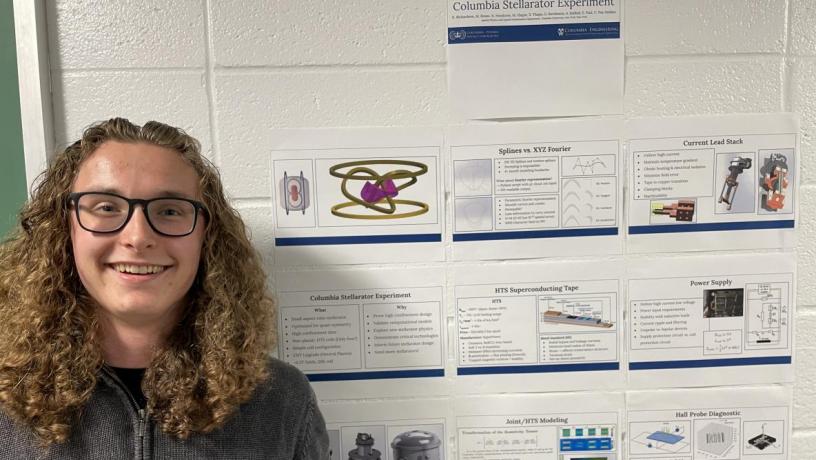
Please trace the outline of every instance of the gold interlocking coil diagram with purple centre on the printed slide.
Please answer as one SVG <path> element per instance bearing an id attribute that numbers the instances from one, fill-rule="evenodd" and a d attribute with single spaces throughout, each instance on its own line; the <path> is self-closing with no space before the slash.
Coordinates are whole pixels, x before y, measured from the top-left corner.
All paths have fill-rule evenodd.
<path id="1" fill-rule="evenodd" d="M 414 168 L 394 169 L 383 174 L 375 166 L 407 166 Z M 347 168 L 347 171 L 342 171 Z M 331 208 L 331 213 L 347 219 L 401 219 L 414 217 L 428 212 L 428 204 L 421 201 L 395 199 L 399 192 L 417 183 L 417 177 L 428 172 L 426 164 L 407 160 L 362 160 L 340 163 L 329 168 L 329 174 L 343 179 L 340 191 L 349 201 L 339 203 Z M 365 181 L 360 195 L 348 191 L 349 181 Z M 409 210 L 397 212 L 397 206 L 409 207 Z M 370 211 L 369 214 L 352 213 L 346 208 L 360 206 Z"/>

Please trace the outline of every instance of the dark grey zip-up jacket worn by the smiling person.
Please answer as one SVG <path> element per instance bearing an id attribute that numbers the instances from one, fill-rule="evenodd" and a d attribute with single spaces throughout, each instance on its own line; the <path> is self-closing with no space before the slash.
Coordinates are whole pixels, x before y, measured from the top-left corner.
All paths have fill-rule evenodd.
<path id="1" fill-rule="evenodd" d="M 329 438 L 306 377 L 276 359 L 270 378 L 218 430 L 186 440 L 163 433 L 109 369 L 64 444 L 37 447 L 31 430 L 0 410 L 0 459 L 327 460 Z"/>

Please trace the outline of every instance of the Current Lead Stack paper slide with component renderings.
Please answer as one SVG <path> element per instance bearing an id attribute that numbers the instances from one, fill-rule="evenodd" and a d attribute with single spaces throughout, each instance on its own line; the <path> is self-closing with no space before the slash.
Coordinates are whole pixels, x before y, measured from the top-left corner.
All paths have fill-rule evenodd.
<path id="1" fill-rule="evenodd" d="M 632 120 L 632 252 L 795 245 L 799 126 L 791 114 Z"/>

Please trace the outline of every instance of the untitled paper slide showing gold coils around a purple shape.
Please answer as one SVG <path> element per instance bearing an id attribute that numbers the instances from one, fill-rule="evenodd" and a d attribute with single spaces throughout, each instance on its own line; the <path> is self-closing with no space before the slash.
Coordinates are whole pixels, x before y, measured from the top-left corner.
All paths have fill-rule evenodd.
<path id="1" fill-rule="evenodd" d="M 287 130 L 271 153 L 277 265 L 442 260 L 436 129 Z"/>

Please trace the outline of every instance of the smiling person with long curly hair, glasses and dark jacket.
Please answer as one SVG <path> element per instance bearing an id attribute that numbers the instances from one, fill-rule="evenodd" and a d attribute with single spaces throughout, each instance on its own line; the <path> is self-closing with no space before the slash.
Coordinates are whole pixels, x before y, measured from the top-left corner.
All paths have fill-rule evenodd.
<path id="1" fill-rule="evenodd" d="M 259 256 L 199 143 L 88 128 L 0 246 L 0 458 L 325 460 L 314 393 L 270 358 Z"/>

